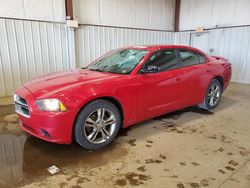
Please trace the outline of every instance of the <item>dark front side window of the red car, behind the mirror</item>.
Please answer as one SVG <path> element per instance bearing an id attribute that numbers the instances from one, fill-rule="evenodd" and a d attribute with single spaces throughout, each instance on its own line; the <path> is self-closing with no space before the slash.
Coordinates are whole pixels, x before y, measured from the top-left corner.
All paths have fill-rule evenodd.
<path id="1" fill-rule="evenodd" d="M 178 67 L 176 50 L 159 50 L 155 52 L 145 66 L 157 66 L 159 72 L 175 69 Z"/>

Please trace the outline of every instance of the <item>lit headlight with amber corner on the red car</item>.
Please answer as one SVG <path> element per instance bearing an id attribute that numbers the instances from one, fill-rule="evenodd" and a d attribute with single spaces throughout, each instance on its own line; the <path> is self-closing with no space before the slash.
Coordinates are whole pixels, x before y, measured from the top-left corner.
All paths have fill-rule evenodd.
<path id="1" fill-rule="evenodd" d="M 64 112 L 66 107 L 58 99 L 37 100 L 36 104 L 40 110 L 49 112 Z"/>

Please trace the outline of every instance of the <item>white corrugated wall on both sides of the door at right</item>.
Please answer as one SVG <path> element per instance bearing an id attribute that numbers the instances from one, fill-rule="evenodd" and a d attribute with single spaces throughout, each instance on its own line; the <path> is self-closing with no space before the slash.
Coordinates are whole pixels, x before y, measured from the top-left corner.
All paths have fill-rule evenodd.
<path id="1" fill-rule="evenodd" d="M 175 44 L 190 45 L 192 32 L 175 33 Z M 250 83 L 250 26 L 209 30 L 208 49 L 232 63 L 232 81 Z"/>

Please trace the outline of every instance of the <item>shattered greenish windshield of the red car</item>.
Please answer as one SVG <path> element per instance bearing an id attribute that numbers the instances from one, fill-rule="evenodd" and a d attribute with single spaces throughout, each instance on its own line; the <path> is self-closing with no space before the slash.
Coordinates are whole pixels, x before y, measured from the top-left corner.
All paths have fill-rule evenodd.
<path id="1" fill-rule="evenodd" d="M 148 51 L 139 49 L 111 51 L 90 64 L 87 69 L 99 72 L 130 74 L 147 53 Z"/>

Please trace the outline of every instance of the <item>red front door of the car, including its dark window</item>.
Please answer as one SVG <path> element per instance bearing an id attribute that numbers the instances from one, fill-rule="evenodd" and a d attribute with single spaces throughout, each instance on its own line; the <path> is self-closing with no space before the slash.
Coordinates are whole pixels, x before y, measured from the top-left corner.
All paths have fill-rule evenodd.
<path id="1" fill-rule="evenodd" d="M 187 102 L 186 75 L 179 69 L 180 63 L 175 49 L 155 52 L 144 66 L 157 66 L 157 73 L 139 73 L 137 112 L 143 120 L 177 110 Z"/>

